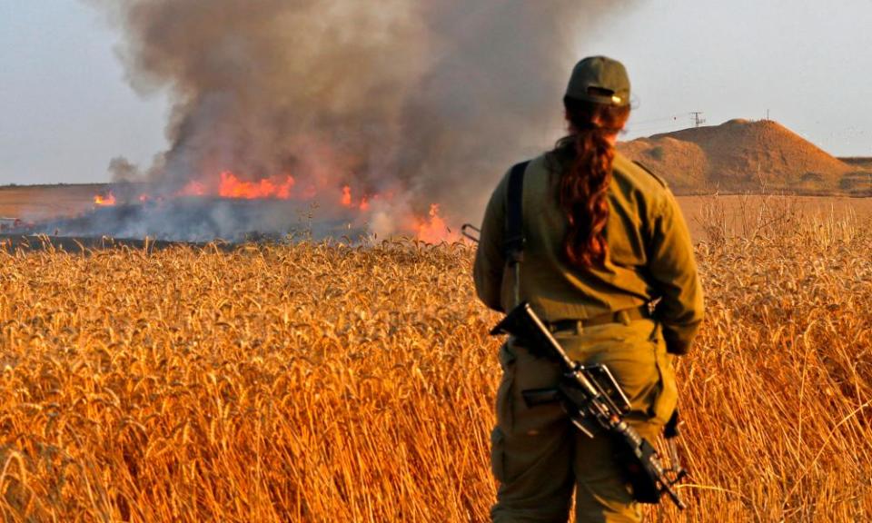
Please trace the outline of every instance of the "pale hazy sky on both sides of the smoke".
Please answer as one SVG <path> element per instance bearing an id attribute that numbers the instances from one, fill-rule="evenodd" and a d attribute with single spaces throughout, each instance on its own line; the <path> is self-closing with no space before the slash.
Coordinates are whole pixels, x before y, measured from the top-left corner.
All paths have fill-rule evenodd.
<path id="1" fill-rule="evenodd" d="M 691 111 L 717 124 L 768 110 L 829 153 L 872 156 L 870 23 L 872 0 L 639 1 L 578 54 L 627 64 L 626 139 L 688 127 Z M 0 0 L 0 184 L 103 182 L 114 156 L 148 164 L 166 147 L 166 101 L 126 84 L 118 40 L 78 0 Z"/>

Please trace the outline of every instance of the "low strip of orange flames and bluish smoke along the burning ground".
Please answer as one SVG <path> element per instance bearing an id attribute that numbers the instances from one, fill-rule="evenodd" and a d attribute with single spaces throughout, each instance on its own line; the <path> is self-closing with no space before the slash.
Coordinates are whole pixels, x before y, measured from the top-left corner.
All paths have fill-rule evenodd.
<path id="1" fill-rule="evenodd" d="M 377 240 L 373 226 L 385 222 L 391 234 L 422 242 L 459 238 L 442 218 L 438 203 L 432 203 L 420 215 L 396 210 L 387 213 L 385 207 L 394 201 L 393 193 L 355 196 L 351 187 L 344 186 L 325 200 L 312 189 L 296 189 L 290 176 L 253 183 L 222 173 L 214 188 L 192 182 L 173 194 L 157 194 L 142 183 L 116 184 L 96 194 L 89 211 L 31 223 L 18 230 L 62 237 L 97 235 L 171 242 L 289 238 L 362 242 Z"/>

